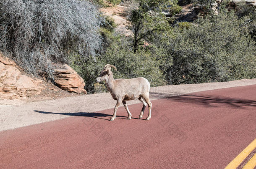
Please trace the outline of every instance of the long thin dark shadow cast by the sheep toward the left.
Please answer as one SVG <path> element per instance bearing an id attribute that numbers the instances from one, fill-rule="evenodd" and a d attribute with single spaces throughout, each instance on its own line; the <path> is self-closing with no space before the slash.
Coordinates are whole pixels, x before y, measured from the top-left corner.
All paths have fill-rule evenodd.
<path id="1" fill-rule="evenodd" d="M 95 113 L 95 112 L 77 112 L 77 113 L 54 113 L 54 112 L 48 112 L 48 111 L 38 111 L 34 110 L 37 113 L 42 113 L 42 114 L 60 114 L 60 115 L 65 115 L 65 116 L 81 116 L 81 117 L 91 117 L 91 118 L 96 118 L 96 119 L 102 119 L 102 120 L 110 120 L 110 119 L 105 119 L 102 117 L 112 117 L 112 114 L 104 114 L 104 113 Z M 116 115 L 116 119 L 127 119 L 127 116 L 118 116 Z M 138 118 L 133 118 L 132 119 L 138 119 Z"/>

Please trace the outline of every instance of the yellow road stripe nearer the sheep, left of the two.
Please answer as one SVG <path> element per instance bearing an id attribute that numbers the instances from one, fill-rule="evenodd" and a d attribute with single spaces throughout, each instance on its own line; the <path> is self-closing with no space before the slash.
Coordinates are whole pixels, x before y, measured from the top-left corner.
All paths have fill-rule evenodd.
<path id="1" fill-rule="evenodd" d="M 243 160 L 256 148 L 256 139 L 251 142 L 238 156 L 228 164 L 225 169 L 235 169 L 243 162 Z"/>

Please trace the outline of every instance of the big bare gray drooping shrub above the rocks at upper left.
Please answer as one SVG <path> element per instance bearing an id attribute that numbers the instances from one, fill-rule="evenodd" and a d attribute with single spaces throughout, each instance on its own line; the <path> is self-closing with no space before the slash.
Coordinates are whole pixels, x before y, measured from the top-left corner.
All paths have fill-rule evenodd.
<path id="1" fill-rule="evenodd" d="M 53 79 L 53 62 L 67 62 L 72 52 L 96 55 L 103 21 L 84 0 L 1 0 L 0 50 L 33 74 Z"/>

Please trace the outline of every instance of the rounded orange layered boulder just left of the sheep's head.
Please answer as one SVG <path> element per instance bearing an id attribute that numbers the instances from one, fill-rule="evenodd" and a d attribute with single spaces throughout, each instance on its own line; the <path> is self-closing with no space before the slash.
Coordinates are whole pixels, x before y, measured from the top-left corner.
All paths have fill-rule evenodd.
<path id="1" fill-rule="evenodd" d="M 59 88 L 68 92 L 87 94 L 84 89 L 84 79 L 70 66 L 64 64 L 63 68 L 57 68 L 54 71 L 54 81 Z"/>

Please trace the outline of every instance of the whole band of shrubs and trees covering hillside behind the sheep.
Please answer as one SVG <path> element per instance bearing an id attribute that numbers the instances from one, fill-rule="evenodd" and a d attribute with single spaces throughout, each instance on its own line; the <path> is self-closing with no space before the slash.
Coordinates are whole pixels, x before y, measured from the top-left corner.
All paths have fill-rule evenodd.
<path id="1" fill-rule="evenodd" d="M 97 8 L 123 4 L 130 36 L 115 31 Z M 178 21 L 182 7 L 201 5 L 193 22 Z M 26 71 L 47 72 L 65 62 L 84 78 L 88 93 L 105 64 L 114 78 L 143 76 L 152 86 L 256 78 L 256 10 L 205 0 L 3 0 L 0 50 Z M 216 15 L 216 10 L 218 15 Z M 164 13 L 169 12 L 169 17 Z M 15 15 L 14 15 L 15 14 Z"/>

